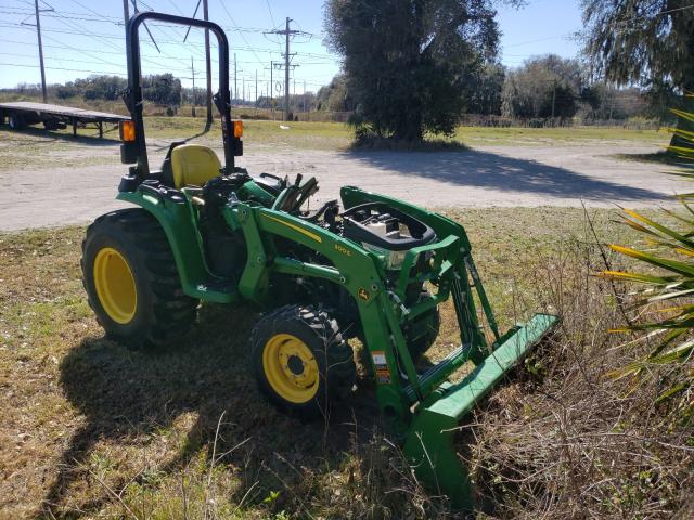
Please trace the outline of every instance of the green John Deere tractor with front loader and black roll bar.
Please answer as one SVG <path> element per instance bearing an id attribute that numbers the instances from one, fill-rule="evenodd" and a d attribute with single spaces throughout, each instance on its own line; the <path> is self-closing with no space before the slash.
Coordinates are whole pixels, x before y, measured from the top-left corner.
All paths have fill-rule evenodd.
<path id="1" fill-rule="evenodd" d="M 223 165 L 208 147 L 174 143 L 162 168 L 150 170 L 138 32 L 149 20 L 217 37 Z M 381 413 L 416 474 L 453 507 L 471 508 L 468 476 L 452 444 L 459 421 L 556 317 L 537 314 L 500 334 L 465 231 L 440 214 L 352 186 L 342 188 L 342 204 L 309 212 L 316 179 L 254 178 L 236 167 L 243 125 L 231 119 L 229 47 L 218 25 L 140 13 L 127 26 L 127 49 L 131 120 L 120 126 L 120 151 L 131 166 L 117 198 L 137 208 L 98 218 L 81 259 L 89 303 L 106 335 L 160 346 L 195 323 L 202 301 L 264 306 L 249 338 L 258 386 L 279 407 L 307 416 L 324 414 L 354 388 L 347 340 L 359 338 Z M 449 299 L 460 346 L 417 372 Z M 449 382 L 467 361 L 474 369 Z"/>

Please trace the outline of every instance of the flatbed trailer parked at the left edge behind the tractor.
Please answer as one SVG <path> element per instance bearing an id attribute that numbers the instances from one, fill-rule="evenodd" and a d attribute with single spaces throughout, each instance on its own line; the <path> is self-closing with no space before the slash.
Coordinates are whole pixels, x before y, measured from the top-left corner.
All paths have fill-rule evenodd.
<path id="1" fill-rule="evenodd" d="M 42 122 L 48 130 L 59 130 L 72 126 L 75 136 L 77 136 L 78 128 L 94 128 L 99 130 L 99 136 L 103 138 L 104 123 L 118 125 L 120 121 L 129 119 L 129 117 L 118 114 L 47 103 L 28 101 L 0 103 L 0 125 L 7 122 L 13 130 L 22 130 L 28 125 Z"/>

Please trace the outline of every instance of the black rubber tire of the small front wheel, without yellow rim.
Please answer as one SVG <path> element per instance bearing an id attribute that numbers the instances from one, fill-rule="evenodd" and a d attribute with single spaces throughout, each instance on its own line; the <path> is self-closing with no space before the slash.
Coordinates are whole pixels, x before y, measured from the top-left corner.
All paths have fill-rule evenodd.
<path id="1" fill-rule="evenodd" d="M 294 403 L 283 399 L 266 377 L 264 349 L 278 334 L 300 339 L 316 359 L 320 382 L 316 396 L 308 402 Z M 258 387 L 270 401 L 306 418 L 324 416 L 335 402 L 351 392 L 357 377 L 354 352 L 343 339 L 337 322 L 314 307 L 285 306 L 266 314 L 250 335 L 250 362 Z"/>

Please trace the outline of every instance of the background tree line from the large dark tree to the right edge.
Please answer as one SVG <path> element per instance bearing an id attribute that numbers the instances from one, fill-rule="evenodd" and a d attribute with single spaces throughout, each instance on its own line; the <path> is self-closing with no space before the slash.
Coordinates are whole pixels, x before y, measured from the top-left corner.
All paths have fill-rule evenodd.
<path id="1" fill-rule="evenodd" d="M 325 102 L 354 109 L 358 136 L 421 141 L 451 134 L 465 112 L 604 118 L 642 106 L 663 117 L 694 90 L 691 0 L 581 0 L 584 63 L 548 55 L 515 70 L 499 65 L 500 4 L 525 2 L 327 0 L 344 74 Z"/>

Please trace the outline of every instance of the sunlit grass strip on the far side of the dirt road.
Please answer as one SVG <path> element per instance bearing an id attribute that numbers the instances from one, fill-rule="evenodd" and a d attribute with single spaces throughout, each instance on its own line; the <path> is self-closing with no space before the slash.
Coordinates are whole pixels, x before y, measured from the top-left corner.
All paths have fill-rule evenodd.
<path id="1" fill-rule="evenodd" d="M 201 118 L 147 117 L 146 135 L 150 145 L 165 150 L 172 141 L 194 139 L 195 142 L 220 146 L 221 131 L 218 126 L 205 132 Z M 282 129 L 277 121 L 245 122 L 246 150 L 264 151 L 345 151 L 352 144 L 352 132 L 348 126 L 338 122 L 292 122 Z M 0 171 L 16 168 L 62 168 L 86 165 L 118 165 L 117 130 L 108 129 L 105 139 L 99 139 L 94 130 L 79 130 L 78 138 L 72 130 L 46 131 L 29 128 L 22 133 L 12 132 L 0 126 Z M 603 146 L 615 147 L 644 145 L 666 146 L 669 134 L 655 130 L 626 130 L 617 128 L 483 128 L 461 127 L 448 140 L 437 140 L 427 150 L 461 150 L 465 146 Z M 651 155 L 622 155 L 619 158 L 652 160 Z"/>

